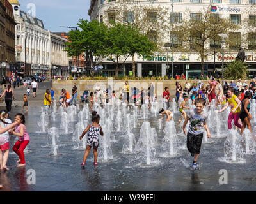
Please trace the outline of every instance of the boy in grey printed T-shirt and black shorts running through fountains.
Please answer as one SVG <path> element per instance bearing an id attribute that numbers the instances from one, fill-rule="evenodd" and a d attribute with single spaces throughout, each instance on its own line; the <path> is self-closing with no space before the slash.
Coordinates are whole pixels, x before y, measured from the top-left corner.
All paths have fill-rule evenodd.
<path id="1" fill-rule="evenodd" d="M 204 111 L 205 100 L 196 99 L 196 108 L 189 110 L 186 120 L 183 124 L 184 135 L 186 135 L 186 125 L 190 121 L 188 135 L 187 135 L 187 148 L 194 157 L 192 168 L 197 168 L 198 157 L 200 154 L 201 143 L 203 138 L 204 129 L 207 131 L 208 138 L 211 138 L 211 133 L 207 127 L 208 114 Z"/>

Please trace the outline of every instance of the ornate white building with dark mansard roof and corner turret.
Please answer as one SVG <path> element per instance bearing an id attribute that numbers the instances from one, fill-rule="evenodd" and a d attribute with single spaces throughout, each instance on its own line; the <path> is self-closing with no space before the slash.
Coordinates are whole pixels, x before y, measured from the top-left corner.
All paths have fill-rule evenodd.
<path id="1" fill-rule="evenodd" d="M 50 33 L 43 21 L 20 11 L 17 0 L 9 0 L 15 16 L 15 45 L 17 74 L 49 75 L 51 67 Z"/>

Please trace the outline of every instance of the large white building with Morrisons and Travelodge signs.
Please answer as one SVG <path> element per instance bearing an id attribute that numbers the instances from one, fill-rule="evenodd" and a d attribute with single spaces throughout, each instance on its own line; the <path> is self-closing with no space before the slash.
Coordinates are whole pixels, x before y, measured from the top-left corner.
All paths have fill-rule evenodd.
<path id="1" fill-rule="evenodd" d="M 134 1 L 135 2 L 135 1 Z M 126 13 L 115 13 L 115 4 L 118 0 L 91 0 L 90 8 L 88 10 L 88 15 L 90 15 L 91 20 L 98 20 L 99 22 L 104 22 L 108 24 L 111 20 L 115 21 L 116 15 L 122 15 L 125 21 L 132 21 L 134 19 L 134 10 L 129 8 Z M 211 8 L 214 12 L 221 18 L 229 18 L 234 24 L 243 24 L 243 21 L 250 21 L 256 25 L 256 1 L 255 0 L 173 0 L 173 23 L 182 24 L 182 20 L 193 18 L 200 11 L 204 10 L 205 7 Z M 172 1 L 161 0 L 161 1 L 148 1 L 139 0 L 136 1 L 138 6 L 151 6 L 156 8 L 154 11 L 155 20 L 159 13 L 157 8 L 168 8 L 168 13 L 166 13 L 166 22 L 170 24 L 172 20 Z M 119 18 L 120 19 L 120 18 Z M 126 20 L 125 20 L 126 19 Z M 244 26 L 241 26 L 239 31 L 236 31 L 237 41 L 239 41 L 239 47 L 243 47 L 246 54 L 246 63 L 250 65 L 248 68 L 250 70 L 250 75 L 256 74 L 256 30 L 255 27 L 252 31 L 247 31 Z M 157 38 L 162 38 L 166 43 L 170 43 L 170 33 L 171 30 L 168 29 L 162 36 L 157 36 Z M 243 36 L 249 36 L 248 41 L 241 41 Z M 250 37 L 251 36 L 251 37 Z M 207 45 L 210 47 L 210 45 Z M 225 44 L 224 51 L 224 62 L 231 62 L 237 56 L 239 47 L 230 50 L 228 45 Z M 162 50 L 166 50 L 163 46 Z M 168 56 L 168 57 L 167 57 Z M 171 57 L 170 48 L 161 53 L 155 53 L 154 56 L 147 57 L 135 57 L 136 60 L 136 76 L 164 76 L 172 73 L 171 68 Z M 122 59 L 120 59 L 122 61 Z M 209 56 L 205 59 L 205 74 L 212 75 L 214 72 L 214 66 L 218 71 L 221 70 L 222 55 L 217 53 Z M 102 59 L 100 65 L 103 66 L 102 73 L 108 76 L 115 75 L 115 65 L 109 59 Z M 169 67 L 169 68 L 168 68 Z M 125 62 L 124 68 L 120 71 L 120 75 L 129 75 L 132 71 L 132 59 L 129 57 Z M 184 73 L 186 77 L 195 77 L 200 75 L 201 64 L 199 54 L 193 52 L 180 52 L 175 50 L 173 53 L 173 77 L 175 75 L 181 75 Z"/>

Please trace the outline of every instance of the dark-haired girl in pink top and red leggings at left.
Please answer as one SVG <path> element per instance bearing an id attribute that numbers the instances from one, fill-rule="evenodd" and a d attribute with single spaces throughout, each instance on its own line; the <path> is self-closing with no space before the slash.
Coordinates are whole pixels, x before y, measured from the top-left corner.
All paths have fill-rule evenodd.
<path id="1" fill-rule="evenodd" d="M 17 163 L 20 163 L 17 167 L 25 166 L 25 156 L 24 149 L 29 143 L 29 135 L 26 130 L 25 124 L 25 116 L 22 113 L 18 113 L 15 115 L 15 122 L 17 122 L 16 127 L 12 130 L 12 134 L 19 137 L 19 140 L 15 143 L 12 150 L 18 154 L 19 160 Z"/>

